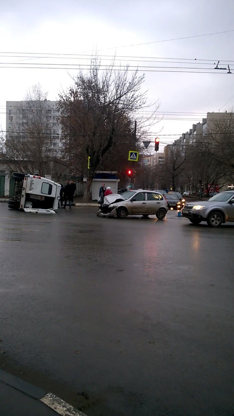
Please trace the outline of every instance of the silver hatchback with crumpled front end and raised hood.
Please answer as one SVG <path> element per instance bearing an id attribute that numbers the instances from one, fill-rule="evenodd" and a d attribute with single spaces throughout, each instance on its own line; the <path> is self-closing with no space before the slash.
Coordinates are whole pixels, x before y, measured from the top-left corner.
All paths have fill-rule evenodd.
<path id="1" fill-rule="evenodd" d="M 144 189 L 123 192 L 121 195 L 105 196 L 104 203 L 97 211 L 101 217 L 126 218 L 127 215 L 156 215 L 163 220 L 167 213 L 167 201 L 161 193 Z"/>

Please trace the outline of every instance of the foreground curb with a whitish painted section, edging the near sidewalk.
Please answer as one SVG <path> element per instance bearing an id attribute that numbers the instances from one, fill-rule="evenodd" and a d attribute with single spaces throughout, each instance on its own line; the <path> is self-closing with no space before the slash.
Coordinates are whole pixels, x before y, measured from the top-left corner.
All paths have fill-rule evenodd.
<path id="1" fill-rule="evenodd" d="M 75 407 L 55 396 L 55 394 L 46 393 L 43 389 L 33 386 L 33 384 L 27 383 L 27 381 L 23 381 L 18 377 L 12 376 L 4 370 L 0 370 L 0 381 L 7 384 L 7 386 L 27 394 L 27 396 L 31 396 L 34 399 L 41 401 L 57 414 L 62 416 L 86 416 L 81 411 L 75 409 Z"/>

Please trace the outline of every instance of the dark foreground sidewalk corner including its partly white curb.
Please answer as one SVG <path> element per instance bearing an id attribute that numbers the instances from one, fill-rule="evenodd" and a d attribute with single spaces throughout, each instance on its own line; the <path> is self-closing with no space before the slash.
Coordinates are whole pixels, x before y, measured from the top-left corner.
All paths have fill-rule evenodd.
<path id="1" fill-rule="evenodd" d="M 85 416 L 52 393 L 0 370 L 1 416 Z"/>

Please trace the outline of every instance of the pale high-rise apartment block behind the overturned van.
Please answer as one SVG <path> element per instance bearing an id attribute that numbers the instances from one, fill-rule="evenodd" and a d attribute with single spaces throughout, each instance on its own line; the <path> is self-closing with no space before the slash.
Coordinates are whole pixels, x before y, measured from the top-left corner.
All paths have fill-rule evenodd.
<path id="1" fill-rule="evenodd" d="M 50 149 L 56 156 L 60 156 L 61 144 L 61 125 L 57 118 L 57 102 L 44 101 L 7 101 L 6 102 L 6 138 L 9 139 L 12 134 L 23 134 L 32 124 L 42 124 L 43 134 L 50 140 Z M 25 134 L 27 139 L 27 134 Z"/>

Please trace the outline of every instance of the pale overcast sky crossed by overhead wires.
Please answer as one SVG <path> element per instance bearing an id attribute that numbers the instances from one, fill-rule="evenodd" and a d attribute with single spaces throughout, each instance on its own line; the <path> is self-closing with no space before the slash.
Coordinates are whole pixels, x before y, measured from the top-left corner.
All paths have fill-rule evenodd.
<path id="1" fill-rule="evenodd" d="M 77 61 L 52 54 L 89 55 L 98 50 L 100 55 L 116 53 L 122 64 L 129 60 L 139 69 L 143 65 L 180 66 L 193 67 L 193 71 L 207 68 L 207 72 L 214 72 L 165 72 L 178 70 L 169 68 L 161 69 L 164 72 L 145 72 L 149 102 L 159 100 L 160 116 L 164 114 L 153 132 L 162 129 L 159 133 L 161 143 L 169 142 L 177 138 L 175 134 L 182 134 L 193 123 L 202 120 L 202 114 L 219 109 L 224 111 L 234 105 L 234 32 L 170 39 L 234 30 L 233 16 L 234 0 L 1 0 L 0 52 L 4 52 L 1 55 L 19 52 L 18 57 L 2 56 L 1 62 L 10 63 L 6 64 L 8 66 L 15 62 L 18 66 L 30 63 L 82 63 L 87 66 L 89 57 L 83 56 L 85 59 Z M 168 41 L 159 42 L 163 40 Z M 155 43 L 122 47 L 147 42 Z M 48 55 L 47 59 L 29 59 L 24 57 L 26 52 L 33 56 L 35 53 Z M 119 58 L 120 55 L 127 58 Z M 175 59 L 174 62 L 164 59 L 167 62 L 155 63 L 152 59 L 142 62 L 147 59 L 140 57 Z M 189 59 L 194 61 L 188 64 Z M 217 64 L 218 60 L 224 60 L 221 64 L 225 67 L 230 63 L 233 74 L 214 71 L 214 62 Z M 6 101 L 22 100 L 27 89 L 38 82 L 48 91 L 48 99 L 55 100 L 58 92 L 71 83 L 68 72 L 75 74 L 72 69 L 0 68 L 2 128 L 5 129 Z M 185 116 L 185 112 L 190 114 Z"/>

